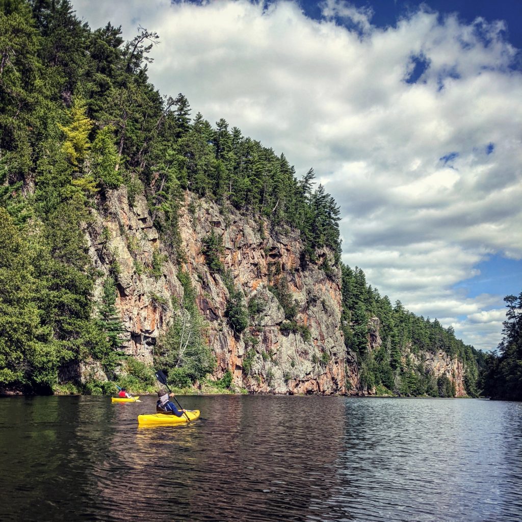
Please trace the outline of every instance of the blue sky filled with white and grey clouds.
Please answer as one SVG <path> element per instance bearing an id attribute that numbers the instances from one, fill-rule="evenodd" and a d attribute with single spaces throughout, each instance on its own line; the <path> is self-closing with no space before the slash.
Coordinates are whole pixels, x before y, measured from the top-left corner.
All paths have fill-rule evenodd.
<path id="1" fill-rule="evenodd" d="M 494 349 L 522 290 L 522 2 L 73 0 L 93 28 L 160 35 L 149 66 L 313 167 L 343 261 L 410 311 Z"/>

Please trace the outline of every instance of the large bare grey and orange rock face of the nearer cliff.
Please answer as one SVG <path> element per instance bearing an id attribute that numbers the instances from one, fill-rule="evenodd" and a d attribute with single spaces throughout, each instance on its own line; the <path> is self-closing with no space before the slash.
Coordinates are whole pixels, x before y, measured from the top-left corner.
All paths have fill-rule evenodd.
<path id="1" fill-rule="evenodd" d="M 317 252 L 317 262 L 305 266 L 298 231 L 271 231 L 266 220 L 233 209 L 223 216 L 215 204 L 188 192 L 184 203 L 180 232 L 186 262 L 182 267 L 165 251 L 143 196 L 129 206 L 126 189 L 121 187 L 108 194 L 103 215 L 93 211 L 89 253 L 99 270 L 98 289 L 109 272 L 115 274 L 125 352 L 152 362 L 156 339 L 175 313 L 171 298 L 179 301 L 183 295 L 176 278 L 183 268 L 191 276 L 199 311 L 207 322 L 206 336 L 217 360 L 213 378 L 230 370 L 233 383 L 252 393 L 357 394 L 357 362 L 347 353 L 340 330 L 340 270 L 328 270 L 327 275 L 320 268 L 324 260 L 333 264 L 331 252 Z M 221 261 L 245 303 L 251 299 L 259 303 L 259 312 L 251 316 L 241 335 L 225 317 L 227 287 L 210 272 L 202 253 L 203 241 L 212 230 L 222 238 Z M 281 283 L 296 304 L 296 322 L 309 329 L 309 339 L 281 329 L 284 312 L 269 290 Z M 89 371 L 99 374 L 99 369 Z"/>

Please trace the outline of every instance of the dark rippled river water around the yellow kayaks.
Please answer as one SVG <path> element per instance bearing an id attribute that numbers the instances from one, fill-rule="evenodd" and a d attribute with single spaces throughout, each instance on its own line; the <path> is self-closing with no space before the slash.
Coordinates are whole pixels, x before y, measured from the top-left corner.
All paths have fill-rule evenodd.
<path id="1" fill-rule="evenodd" d="M 522 520 L 522 404 L 179 399 L 0 399 L 0 520 Z"/>

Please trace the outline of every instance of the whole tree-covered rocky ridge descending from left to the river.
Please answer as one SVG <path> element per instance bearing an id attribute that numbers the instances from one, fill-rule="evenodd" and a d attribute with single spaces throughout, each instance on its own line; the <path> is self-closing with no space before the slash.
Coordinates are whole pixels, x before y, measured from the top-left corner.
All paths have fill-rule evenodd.
<path id="1" fill-rule="evenodd" d="M 312 169 L 156 91 L 156 33 L 66 0 L 0 28 L 0 392 L 146 392 L 161 367 L 186 389 L 477 393 L 472 347 L 342 264 Z"/>

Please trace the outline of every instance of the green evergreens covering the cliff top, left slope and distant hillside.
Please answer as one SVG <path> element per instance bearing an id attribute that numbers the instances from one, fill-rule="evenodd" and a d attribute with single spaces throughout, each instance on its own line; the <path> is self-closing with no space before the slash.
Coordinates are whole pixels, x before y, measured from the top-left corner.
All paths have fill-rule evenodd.
<path id="1" fill-rule="evenodd" d="M 451 327 L 392 305 L 362 270 L 342 265 L 339 207 L 315 186 L 313 170 L 298 179 L 283 154 L 225 120 L 212 126 L 192 116 L 183 94 L 161 96 L 147 77 L 158 35 L 140 27 L 125 42 L 121 34 L 110 23 L 91 30 L 67 0 L 0 0 L 0 389 L 48 393 L 71 362 L 92 358 L 108 371 L 121 363 L 114 278 L 95 302 L 85 228 L 90 210 L 124 184 L 130 203 L 146 194 L 177 260 L 186 190 L 216 201 L 224 215 L 233 207 L 267 217 L 274 228 L 299 229 L 303 268 L 320 247 L 341 267 L 346 345 L 365 386 L 453 396 L 447 377 L 437 380 L 413 361 L 443 350 L 465 362 L 466 389 L 476 395 L 480 352 Z M 337 277 L 327 262 L 321 268 Z M 383 340 L 373 351 L 372 317 Z M 513 343 L 505 346 L 507 353 Z M 149 378 L 135 362 L 128 371 Z"/>

